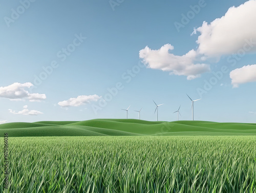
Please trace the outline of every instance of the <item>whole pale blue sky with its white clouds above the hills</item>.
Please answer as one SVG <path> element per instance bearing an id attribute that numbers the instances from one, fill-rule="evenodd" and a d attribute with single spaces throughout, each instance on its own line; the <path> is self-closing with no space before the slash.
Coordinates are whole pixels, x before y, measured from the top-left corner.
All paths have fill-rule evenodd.
<path id="1" fill-rule="evenodd" d="M 202 98 L 196 120 L 255 122 L 256 47 L 243 46 L 256 1 L 245 2 L 2 1 L 0 121 L 126 118 L 129 105 L 129 118 L 143 107 L 156 120 L 153 99 L 159 120 L 180 105 L 190 120 L 188 94 Z"/>

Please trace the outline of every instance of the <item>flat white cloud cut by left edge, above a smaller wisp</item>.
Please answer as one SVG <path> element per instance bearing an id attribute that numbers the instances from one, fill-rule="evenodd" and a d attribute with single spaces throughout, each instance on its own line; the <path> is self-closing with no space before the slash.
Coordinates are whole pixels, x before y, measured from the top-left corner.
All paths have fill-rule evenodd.
<path id="1" fill-rule="evenodd" d="M 7 87 L 0 87 L 0 97 L 10 100 L 28 99 L 29 101 L 41 101 L 42 99 L 46 99 L 45 94 L 29 93 L 27 89 L 32 86 L 33 84 L 31 82 L 15 82 Z"/>

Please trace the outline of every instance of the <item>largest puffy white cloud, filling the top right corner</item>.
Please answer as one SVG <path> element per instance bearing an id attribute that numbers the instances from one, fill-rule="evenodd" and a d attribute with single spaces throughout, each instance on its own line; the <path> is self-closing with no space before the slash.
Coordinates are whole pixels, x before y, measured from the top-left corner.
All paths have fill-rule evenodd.
<path id="1" fill-rule="evenodd" d="M 215 19 L 196 30 L 199 54 L 209 57 L 237 53 L 239 50 L 256 50 L 256 0 L 245 2 L 239 7 L 231 7 L 221 18 Z"/>

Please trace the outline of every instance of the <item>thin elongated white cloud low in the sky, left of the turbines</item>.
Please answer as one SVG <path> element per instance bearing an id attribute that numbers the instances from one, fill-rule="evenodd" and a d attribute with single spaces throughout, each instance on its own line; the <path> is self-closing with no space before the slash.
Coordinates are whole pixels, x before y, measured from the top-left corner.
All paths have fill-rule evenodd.
<path id="1" fill-rule="evenodd" d="M 83 104 L 90 103 L 92 101 L 98 101 L 101 97 L 98 95 L 80 95 L 76 98 L 70 98 L 68 100 L 60 101 L 58 102 L 58 105 L 62 107 L 68 107 L 68 106 L 80 106 Z"/>

